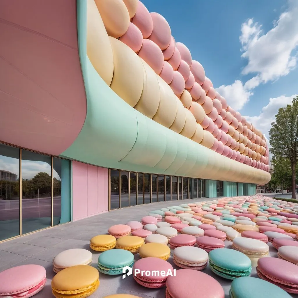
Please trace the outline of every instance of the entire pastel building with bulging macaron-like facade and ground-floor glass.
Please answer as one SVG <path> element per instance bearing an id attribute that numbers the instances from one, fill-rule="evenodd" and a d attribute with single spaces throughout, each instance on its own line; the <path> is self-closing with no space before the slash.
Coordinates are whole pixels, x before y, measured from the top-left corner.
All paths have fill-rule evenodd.
<path id="1" fill-rule="evenodd" d="M 45 3 L 0 3 L 0 241 L 268 183 L 265 137 L 161 15 L 139 1 Z"/>

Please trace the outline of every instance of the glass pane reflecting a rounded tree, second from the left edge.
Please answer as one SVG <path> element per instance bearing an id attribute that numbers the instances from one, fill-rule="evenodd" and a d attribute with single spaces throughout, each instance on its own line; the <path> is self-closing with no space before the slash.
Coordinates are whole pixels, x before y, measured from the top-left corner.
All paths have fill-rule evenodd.
<path id="1" fill-rule="evenodd" d="M 22 150 L 22 234 L 52 225 L 50 156 Z"/>

